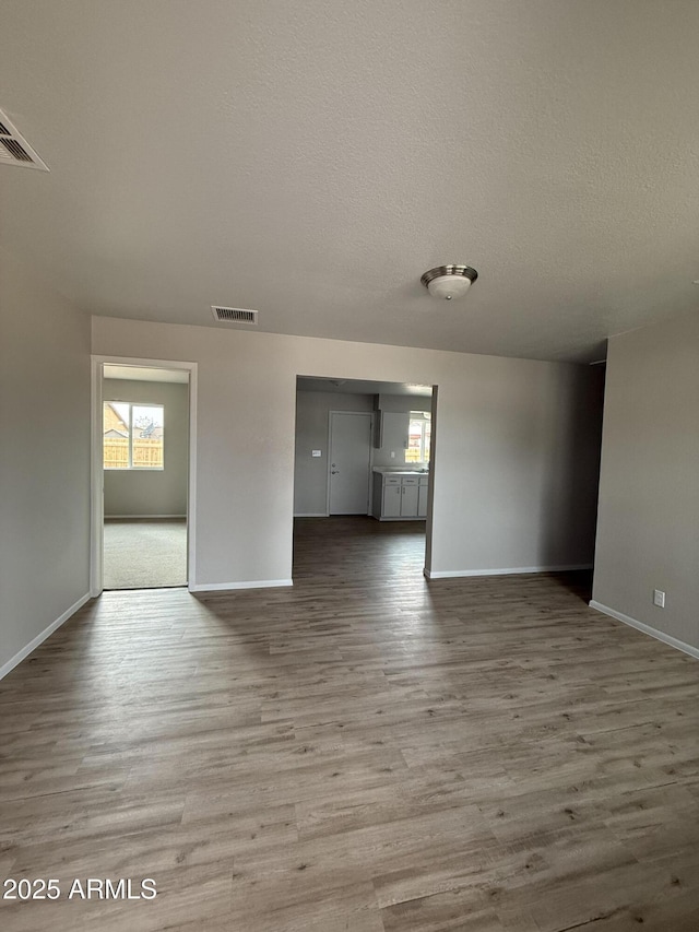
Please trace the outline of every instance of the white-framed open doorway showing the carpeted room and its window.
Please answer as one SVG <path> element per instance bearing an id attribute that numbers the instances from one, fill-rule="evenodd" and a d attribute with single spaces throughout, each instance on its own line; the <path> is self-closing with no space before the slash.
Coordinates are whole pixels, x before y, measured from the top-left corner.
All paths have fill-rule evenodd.
<path id="1" fill-rule="evenodd" d="M 95 359 L 92 594 L 191 585 L 191 364 Z"/>

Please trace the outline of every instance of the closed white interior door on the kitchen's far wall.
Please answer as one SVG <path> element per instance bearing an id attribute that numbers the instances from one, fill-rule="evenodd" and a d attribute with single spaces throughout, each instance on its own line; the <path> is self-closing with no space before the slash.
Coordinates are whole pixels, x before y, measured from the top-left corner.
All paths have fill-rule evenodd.
<path id="1" fill-rule="evenodd" d="M 369 510 L 371 414 L 330 412 L 330 515 L 366 515 Z"/>

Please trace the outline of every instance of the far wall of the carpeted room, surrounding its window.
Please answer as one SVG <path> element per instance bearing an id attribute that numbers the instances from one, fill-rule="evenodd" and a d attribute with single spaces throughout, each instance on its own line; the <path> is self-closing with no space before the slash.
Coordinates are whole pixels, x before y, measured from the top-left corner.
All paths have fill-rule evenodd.
<path id="1" fill-rule="evenodd" d="M 105 517 L 187 514 L 189 387 L 176 382 L 105 379 L 105 401 L 164 405 L 164 469 L 105 470 Z"/>

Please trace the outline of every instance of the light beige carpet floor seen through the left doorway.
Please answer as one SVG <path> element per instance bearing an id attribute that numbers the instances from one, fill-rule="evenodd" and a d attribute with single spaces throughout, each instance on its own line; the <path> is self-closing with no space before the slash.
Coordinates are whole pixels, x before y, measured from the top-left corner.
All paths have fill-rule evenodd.
<path id="1" fill-rule="evenodd" d="M 187 521 L 105 520 L 105 589 L 187 585 Z"/>

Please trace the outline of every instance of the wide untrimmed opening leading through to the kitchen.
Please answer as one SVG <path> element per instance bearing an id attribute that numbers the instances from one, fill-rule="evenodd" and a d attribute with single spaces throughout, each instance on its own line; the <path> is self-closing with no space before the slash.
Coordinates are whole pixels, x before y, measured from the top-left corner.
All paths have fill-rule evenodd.
<path id="1" fill-rule="evenodd" d="M 299 376 L 294 578 L 422 576 L 431 532 L 433 386 Z"/>

